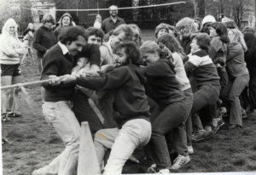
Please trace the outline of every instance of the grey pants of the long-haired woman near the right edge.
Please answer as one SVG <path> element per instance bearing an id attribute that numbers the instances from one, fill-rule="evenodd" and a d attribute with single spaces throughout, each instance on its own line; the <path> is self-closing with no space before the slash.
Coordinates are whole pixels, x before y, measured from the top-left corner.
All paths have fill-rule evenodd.
<path id="1" fill-rule="evenodd" d="M 224 99 L 230 102 L 230 125 L 242 126 L 241 104 L 239 96 L 247 86 L 250 76 L 238 76 L 230 78 L 229 84 L 224 88 Z"/>

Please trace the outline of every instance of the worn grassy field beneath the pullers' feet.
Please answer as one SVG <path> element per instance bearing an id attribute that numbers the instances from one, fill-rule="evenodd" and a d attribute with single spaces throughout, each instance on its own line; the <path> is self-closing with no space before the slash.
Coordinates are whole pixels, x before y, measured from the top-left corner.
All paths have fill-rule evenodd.
<path id="1" fill-rule="evenodd" d="M 144 40 L 153 39 L 148 32 Z M 35 65 L 26 64 L 22 69 L 23 82 L 39 79 Z M 34 101 L 29 107 L 20 99 L 22 117 L 3 123 L 3 135 L 11 144 L 3 145 L 3 175 L 28 175 L 34 169 L 43 167 L 61 153 L 64 145 L 44 121 L 41 108 L 40 87 L 26 88 Z M 191 162 L 177 172 L 240 172 L 256 171 L 256 116 L 249 117 L 239 130 L 223 127 L 213 138 L 194 144 L 195 154 Z M 141 154 L 142 162 L 127 162 L 124 173 L 144 173 L 148 162 Z"/>

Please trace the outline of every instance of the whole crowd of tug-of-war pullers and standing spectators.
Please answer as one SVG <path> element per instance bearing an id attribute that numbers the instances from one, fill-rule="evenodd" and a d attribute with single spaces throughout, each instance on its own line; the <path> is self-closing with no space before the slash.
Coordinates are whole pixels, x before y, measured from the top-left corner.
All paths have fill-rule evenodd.
<path id="1" fill-rule="evenodd" d="M 212 15 L 186 17 L 175 26 L 161 23 L 155 40 L 143 41 L 116 6 L 109 14 L 84 29 L 66 13 L 55 30 L 45 14 L 38 30 L 28 25 L 23 43 L 15 20 L 3 26 L 2 86 L 20 82 L 20 63 L 35 49 L 41 79 L 49 79 L 41 88 L 43 114 L 66 145 L 33 175 L 75 174 L 82 121 L 89 122 L 103 174 L 121 174 L 137 148 L 151 162 L 148 173 L 169 173 L 191 161 L 194 142 L 213 137 L 225 122 L 241 128 L 256 109 L 253 28 L 240 31 Z M 19 116 L 14 98 L 13 90 L 2 91 L 2 121 Z"/>

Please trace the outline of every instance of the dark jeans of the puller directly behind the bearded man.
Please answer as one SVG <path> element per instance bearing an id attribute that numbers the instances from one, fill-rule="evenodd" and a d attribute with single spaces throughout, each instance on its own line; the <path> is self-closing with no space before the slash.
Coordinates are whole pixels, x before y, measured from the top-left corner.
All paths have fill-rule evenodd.
<path id="1" fill-rule="evenodd" d="M 187 120 L 189 109 L 185 99 L 169 104 L 165 109 L 154 112 L 156 117 L 152 122 L 152 136 L 145 147 L 146 154 L 155 163 L 157 168 L 170 168 L 172 166 L 166 142 L 166 133 Z"/>

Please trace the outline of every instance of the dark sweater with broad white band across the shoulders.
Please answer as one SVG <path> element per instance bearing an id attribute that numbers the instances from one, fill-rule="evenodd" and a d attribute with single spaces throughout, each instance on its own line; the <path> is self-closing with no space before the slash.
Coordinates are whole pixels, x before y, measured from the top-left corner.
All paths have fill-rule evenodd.
<path id="1" fill-rule="evenodd" d="M 219 85 L 217 69 L 206 51 L 199 50 L 189 54 L 189 60 L 184 67 L 188 76 L 193 74 L 198 88 L 204 84 Z"/>

